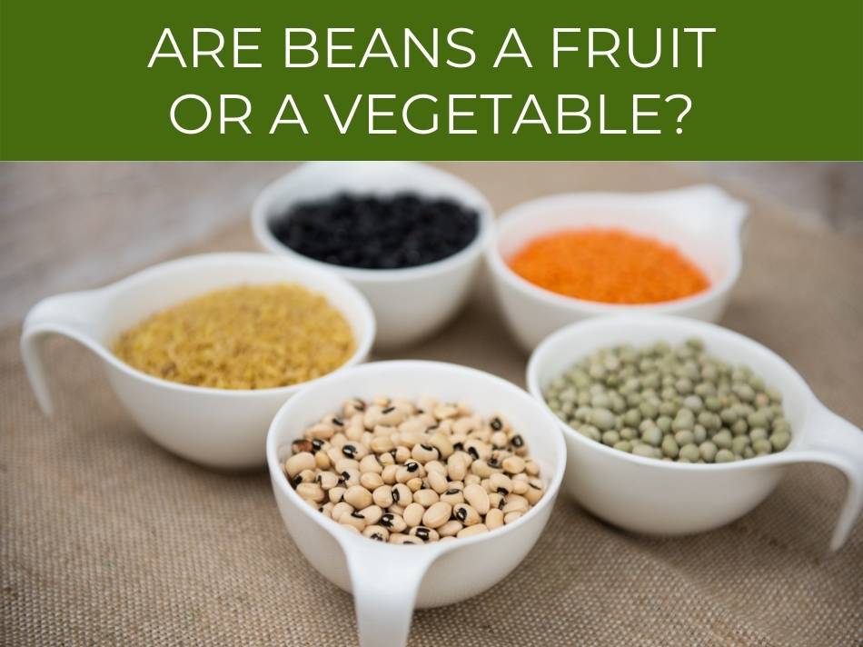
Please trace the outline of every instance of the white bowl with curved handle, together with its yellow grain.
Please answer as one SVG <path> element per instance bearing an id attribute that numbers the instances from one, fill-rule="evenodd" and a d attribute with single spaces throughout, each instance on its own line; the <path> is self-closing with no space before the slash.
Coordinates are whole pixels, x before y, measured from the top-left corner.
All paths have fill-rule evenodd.
<path id="1" fill-rule="evenodd" d="M 362 362 L 374 316 L 338 276 L 270 254 L 203 254 L 36 304 L 25 367 L 53 412 L 43 341 L 59 333 L 102 360 L 108 383 L 156 443 L 196 463 L 265 462 L 273 415 L 303 384 Z"/>

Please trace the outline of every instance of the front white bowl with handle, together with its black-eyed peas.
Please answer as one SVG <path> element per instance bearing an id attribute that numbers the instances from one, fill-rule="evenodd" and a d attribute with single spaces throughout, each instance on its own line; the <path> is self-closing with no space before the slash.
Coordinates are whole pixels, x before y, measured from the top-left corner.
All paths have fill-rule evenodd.
<path id="1" fill-rule="evenodd" d="M 449 363 L 323 378 L 267 436 L 283 522 L 312 566 L 353 593 L 363 646 L 404 644 L 415 607 L 461 602 L 518 566 L 565 461 L 541 403 Z"/>

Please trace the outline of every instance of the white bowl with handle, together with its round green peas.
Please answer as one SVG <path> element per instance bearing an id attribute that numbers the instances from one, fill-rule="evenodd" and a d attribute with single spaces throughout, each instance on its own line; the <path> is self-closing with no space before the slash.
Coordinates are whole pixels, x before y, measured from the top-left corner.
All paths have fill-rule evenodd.
<path id="1" fill-rule="evenodd" d="M 637 533 L 699 533 L 761 503 L 792 463 L 848 477 L 830 546 L 863 505 L 863 433 L 761 344 L 713 323 L 617 315 L 572 323 L 531 355 L 527 380 L 558 417 L 564 490 Z"/>

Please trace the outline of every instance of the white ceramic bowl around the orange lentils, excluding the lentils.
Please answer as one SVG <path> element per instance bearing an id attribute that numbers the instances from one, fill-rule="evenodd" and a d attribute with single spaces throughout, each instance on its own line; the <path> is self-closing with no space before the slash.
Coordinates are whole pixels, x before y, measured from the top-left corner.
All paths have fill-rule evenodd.
<path id="1" fill-rule="evenodd" d="M 711 185 L 660 193 L 550 195 L 501 215 L 486 261 L 506 322 L 529 352 L 560 326 L 600 314 L 679 314 L 715 322 L 740 274 L 740 233 L 747 214 L 746 204 Z M 660 304 L 601 304 L 555 294 L 511 270 L 508 261 L 524 244 L 585 227 L 620 228 L 673 244 L 707 274 L 709 289 Z"/>

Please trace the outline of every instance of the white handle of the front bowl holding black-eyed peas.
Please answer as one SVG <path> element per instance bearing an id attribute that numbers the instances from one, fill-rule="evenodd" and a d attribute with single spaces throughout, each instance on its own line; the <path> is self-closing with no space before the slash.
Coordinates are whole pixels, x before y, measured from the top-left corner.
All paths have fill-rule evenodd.
<path id="1" fill-rule="evenodd" d="M 360 647 L 404 647 L 425 572 L 441 552 L 366 537 L 342 538 L 351 573 Z"/>

